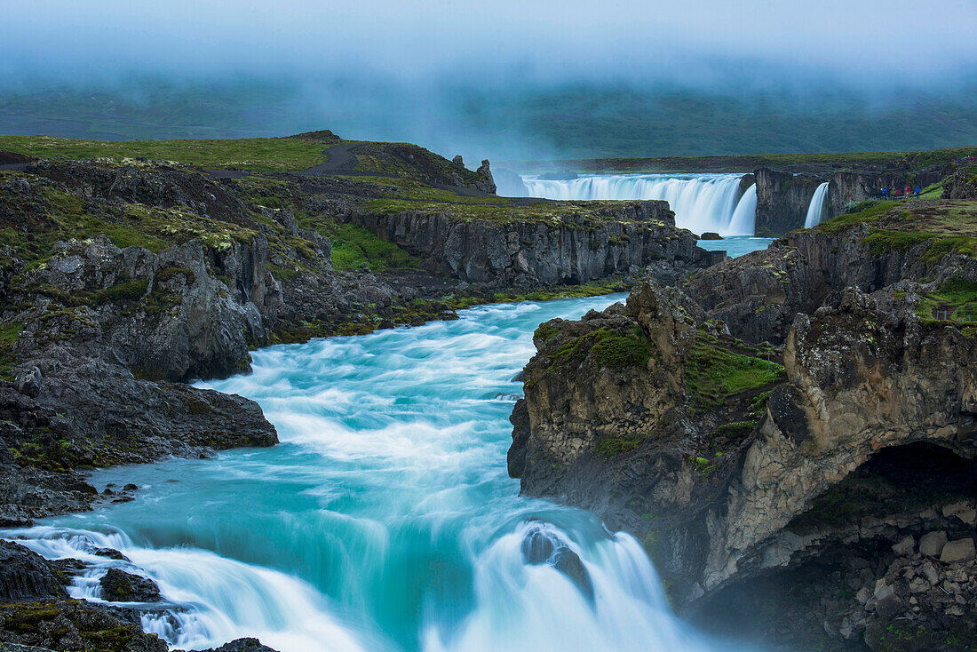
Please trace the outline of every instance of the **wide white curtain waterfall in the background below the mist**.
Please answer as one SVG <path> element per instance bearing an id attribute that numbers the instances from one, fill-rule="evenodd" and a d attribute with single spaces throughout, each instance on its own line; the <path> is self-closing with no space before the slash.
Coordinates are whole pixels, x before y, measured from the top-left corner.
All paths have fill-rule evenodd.
<path id="1" fill-rule="evenodd" d="M 697 234 L 752 236 L 756 188 L 740 196 L 741 175 L 609 174 L 569 180 L 523 177 L 530 196 L 547 199 L 664 199 L 675 224 Z"/>

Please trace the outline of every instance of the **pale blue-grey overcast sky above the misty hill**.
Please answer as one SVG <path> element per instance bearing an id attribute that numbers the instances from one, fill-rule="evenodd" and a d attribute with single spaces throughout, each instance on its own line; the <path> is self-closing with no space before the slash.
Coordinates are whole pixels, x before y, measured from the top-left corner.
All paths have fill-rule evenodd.
<path id="1" fill-rule="evenodd" d="M 239 70 L 714 84 L 779 74 L 930 87 L 977 68 L 977 0 L 0 2 L 7 79 Z"/>

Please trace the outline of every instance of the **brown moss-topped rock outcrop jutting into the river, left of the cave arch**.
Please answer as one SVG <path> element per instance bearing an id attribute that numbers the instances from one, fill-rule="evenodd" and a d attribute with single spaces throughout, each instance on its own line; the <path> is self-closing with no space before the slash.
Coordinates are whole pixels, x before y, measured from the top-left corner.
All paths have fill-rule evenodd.
<path id="1" fill-rule="evenodd" d="M 780 377 L 776 362 L 703 318 L 682 292 L 649 284 L 626 306 L 539 326 L 509 450 L 524 493 L 627 529 L 684 587 L 701 578 L 715 497 L 756 426 L 757 397 Z M 709 361 L 738 364 L 753 380 L 717 401 Z"/>

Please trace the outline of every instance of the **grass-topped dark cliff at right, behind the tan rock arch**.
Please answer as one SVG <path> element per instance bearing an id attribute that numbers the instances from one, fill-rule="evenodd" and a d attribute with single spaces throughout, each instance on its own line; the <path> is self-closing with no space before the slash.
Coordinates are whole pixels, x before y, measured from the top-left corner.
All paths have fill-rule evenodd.
<path id="1" fill-rule="evenodd" d="M 901 280 L 977 278 L 973 239 L 964 235 L 973 217 L 967 203 L 870 201 L 859 212 L 704 270 L 687 289 L 737 337 L 783 343 L 797 313 L 813 312 L 846 287 L 871 292 Z"/>

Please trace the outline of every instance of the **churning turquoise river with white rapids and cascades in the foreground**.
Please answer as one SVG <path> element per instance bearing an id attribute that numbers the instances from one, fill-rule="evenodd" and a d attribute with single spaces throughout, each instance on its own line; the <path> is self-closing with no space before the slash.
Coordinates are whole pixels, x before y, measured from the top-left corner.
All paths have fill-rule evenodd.
<path id="1" fill-rule="evenodd" d="M 203 386 L 256 400 L 278 446 L 99 471 L 100 490 L 135 483 L 136 500 L 0 536 L 94 564 L 75 597 L 100 600 L 111 566 L 150 577 L 179 608 L 144 628 L 188 649 L 258 636 L 282 652 L 729 650 L 670 613 L 640 543 L 519 497 L 506 474 L 532 330 L 622 298 L 257 351 L 252 373 Z M 527 563 L 533 529 L 579 555 L 592 597 Z"/>

